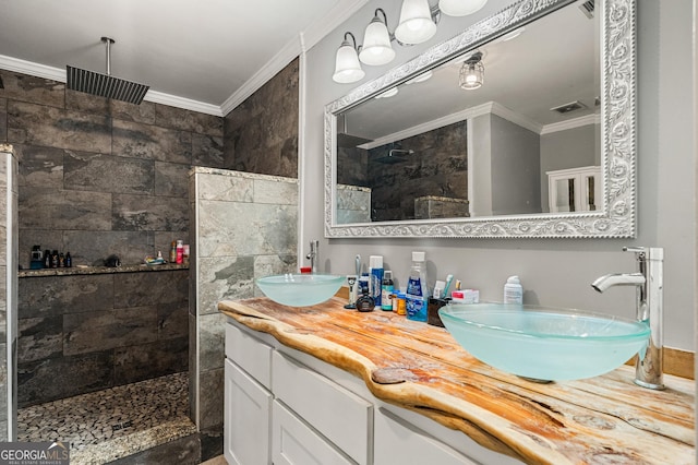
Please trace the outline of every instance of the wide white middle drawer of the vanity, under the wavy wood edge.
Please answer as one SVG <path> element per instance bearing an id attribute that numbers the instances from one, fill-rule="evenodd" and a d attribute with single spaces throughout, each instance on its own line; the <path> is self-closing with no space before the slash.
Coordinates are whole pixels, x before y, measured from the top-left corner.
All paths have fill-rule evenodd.
<path id="1" fill-rule="evenodd" d="M 274 395 L 359 464 L 370 463 L 373 405 L 275 351 Z"/>

